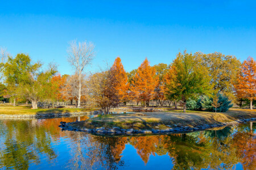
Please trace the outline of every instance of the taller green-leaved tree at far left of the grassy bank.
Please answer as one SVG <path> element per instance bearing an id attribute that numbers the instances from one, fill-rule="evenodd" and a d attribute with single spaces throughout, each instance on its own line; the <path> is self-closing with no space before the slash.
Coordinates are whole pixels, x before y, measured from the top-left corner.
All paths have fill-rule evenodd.
<path id="1" fill-rule="evenodd" d="M 40 62 L 31 63 L 31 58 L 26 54 L 17 54 L 15 58 L 9 57 L 4 65 L 3 75 L 7 84 L 7 95 L 15 101 L 18 97 L 19 86 L 31 82 L 31 76 L 42 66 Z"/>

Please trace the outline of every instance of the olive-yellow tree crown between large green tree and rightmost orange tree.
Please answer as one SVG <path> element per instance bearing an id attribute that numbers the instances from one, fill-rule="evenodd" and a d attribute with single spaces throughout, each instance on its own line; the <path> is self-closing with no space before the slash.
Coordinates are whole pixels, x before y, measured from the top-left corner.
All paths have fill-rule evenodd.
<path id="1" fill-rule="evenodd" d="M 241 62 L 235 56 L 224 55 L 222 53 L 195 53 L 203 58 L 203 64 L 208 68 L 210 84 L 214 93 L 221 92 L 234 100 L 233 82 L 240 69 Z"/>

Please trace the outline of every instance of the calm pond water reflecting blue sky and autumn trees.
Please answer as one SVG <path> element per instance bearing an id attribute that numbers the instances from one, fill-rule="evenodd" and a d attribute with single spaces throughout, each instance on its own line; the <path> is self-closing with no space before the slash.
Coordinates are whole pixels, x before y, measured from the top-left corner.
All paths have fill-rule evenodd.
<path id="1" fill-rule="evenodd" d="M 86 120 L 88 117 L 80 117 Z M 78 118 L 0 118 L 0 169 L 255 169 L 255 124 L 189 134 L 100 137 L 61 131 Z"/>

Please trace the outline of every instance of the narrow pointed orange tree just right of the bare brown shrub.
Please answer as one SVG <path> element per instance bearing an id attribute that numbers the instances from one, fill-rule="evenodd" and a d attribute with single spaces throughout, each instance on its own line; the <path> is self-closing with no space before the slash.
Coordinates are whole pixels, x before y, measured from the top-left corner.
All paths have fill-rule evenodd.
<path id="1" fill-rule="evenodd" d="M 123 69 L 120 57 L 115 58 L 114 64 L 110 68 L 110 71 L 112 71 L 112 75 L 115 79 L 113 86 L 118 92 L 119 99 L 126 104 L 126 102 L 129 100 L 128 90 L 130 83 L 128 83 L 127 74 L 125 69 Z"/>

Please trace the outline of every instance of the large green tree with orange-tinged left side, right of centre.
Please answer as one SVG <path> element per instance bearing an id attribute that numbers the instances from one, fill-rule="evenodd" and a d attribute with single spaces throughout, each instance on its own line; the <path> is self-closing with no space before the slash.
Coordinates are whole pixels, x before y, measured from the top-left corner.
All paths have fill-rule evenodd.
<path id="1" fill-rule="evenodd" d="M 167 78 L 167 97 L 183 101 L 183 112 L 189 98 L 208 94 L 210 90 L 207 67 L 203 66 L 201 57 L 196 54 L 177 54 L 171 65 Z"/>

